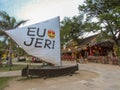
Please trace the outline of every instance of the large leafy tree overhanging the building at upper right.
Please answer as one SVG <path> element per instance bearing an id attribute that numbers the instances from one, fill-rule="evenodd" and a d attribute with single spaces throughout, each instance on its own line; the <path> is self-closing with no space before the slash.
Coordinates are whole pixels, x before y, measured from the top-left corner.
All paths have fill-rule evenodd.
<path id="1" fill-rule="evenodd" d="M 80 13 L 86 15 L 86 21 L 94 27 L 90 30 L 105 33 L 113 39 L 116 45 L 120 46 L 120 3 L 119 0 L 86 0 L 79 6 Z M 90 25 L 90 26 L 91 26 Z M 95 27 L 99 28 L 95 28 Z"/>

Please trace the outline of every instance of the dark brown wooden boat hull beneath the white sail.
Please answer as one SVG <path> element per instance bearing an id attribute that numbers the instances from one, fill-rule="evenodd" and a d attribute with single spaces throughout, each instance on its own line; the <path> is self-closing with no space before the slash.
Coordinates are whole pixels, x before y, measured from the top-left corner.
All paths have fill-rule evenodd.
<path id="1" fill-rule="evenodd" d="M 66 66 L 66 67 L 44 67 L 44 68 L 30 68 L 27 66 L 22 69 L 22 76 L 27 77 L 57 77 L 63 75 L 72 75 L 75 71 L 78 71 L 78 65 Z"/>

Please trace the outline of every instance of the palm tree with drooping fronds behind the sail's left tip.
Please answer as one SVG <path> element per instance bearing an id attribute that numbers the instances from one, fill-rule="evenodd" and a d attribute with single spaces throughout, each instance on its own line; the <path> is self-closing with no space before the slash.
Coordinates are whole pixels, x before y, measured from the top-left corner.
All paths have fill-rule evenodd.
<path id="1" fill-rule="evenodd" d="M 5 11 L 0 11 L 0 36 L 4 37 L 4 44 L 7 41 L 8 44 L 10 45 L 9 48 L 10 66 L 12 66 L 12 45 L 15 43 L 4 31 L 15 29 L 26 22 L 27 20 L 16 21 L 14 17 L 9 16 L 9 14 L 7 14 Z"/>

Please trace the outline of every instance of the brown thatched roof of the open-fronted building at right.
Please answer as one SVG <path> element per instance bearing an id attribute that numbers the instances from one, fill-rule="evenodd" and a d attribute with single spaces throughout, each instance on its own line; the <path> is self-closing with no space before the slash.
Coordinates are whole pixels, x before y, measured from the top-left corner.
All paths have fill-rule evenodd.
<path id="1" fill-rule="evenodd" d="M 101 47 L 113 47 L 114 41 L 110 39 L 104 39 L 101 41 L 97 41 L 97 37 L 99 34 L 89 36 L 85 39 L 81 39 L 78 43 L 78 47 L 75 48 L 75 46 L 67 47 L 65 50 L 62 50 L 62 52 L 74 52 L 74 51 L 80 51 L 85 49 L 87 46 L 92 47 L 95 45 L 99 45 Z M 71 49 L 70 51 L 68 49 Z"/>

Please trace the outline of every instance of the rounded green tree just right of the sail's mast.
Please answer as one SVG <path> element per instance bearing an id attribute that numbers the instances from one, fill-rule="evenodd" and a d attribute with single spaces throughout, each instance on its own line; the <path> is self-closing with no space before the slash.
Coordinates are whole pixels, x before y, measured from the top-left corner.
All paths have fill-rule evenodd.
<path id="1" fill-rule="evenodd" d="M 84 33 L 84 16 L 65 17 L 61 22 L 61 43 L 68 44 L 71 40 L 77 45 L 79 36 Z"/>

